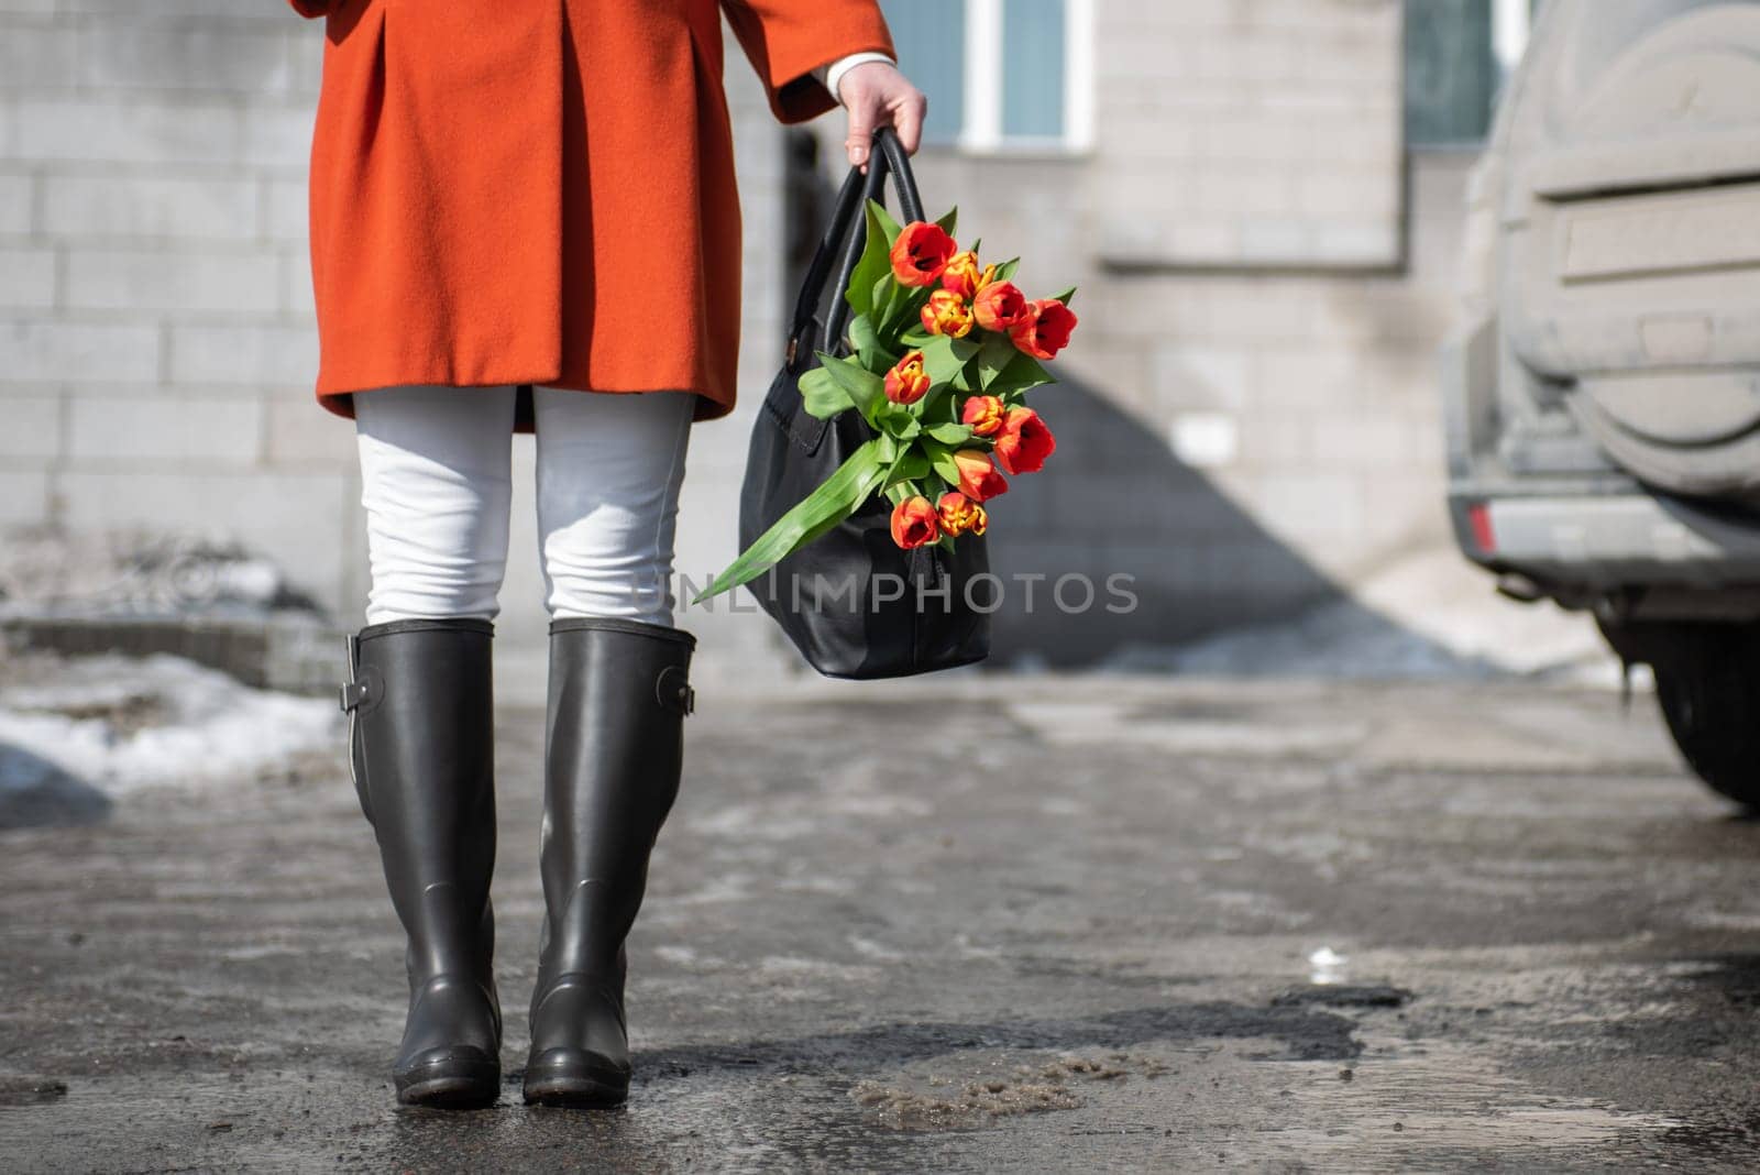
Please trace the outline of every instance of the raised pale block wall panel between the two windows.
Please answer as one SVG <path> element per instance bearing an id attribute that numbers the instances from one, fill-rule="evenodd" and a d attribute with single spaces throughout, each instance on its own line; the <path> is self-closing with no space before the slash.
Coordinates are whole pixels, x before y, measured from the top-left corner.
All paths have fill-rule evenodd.
<path id="1" fill-rule="evenodd" d="M 1399 259 L 1397 0 L 1100 0 L 1095 248 L 1126 266 Z"/>

